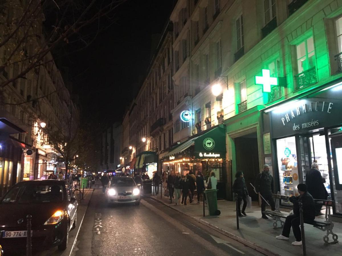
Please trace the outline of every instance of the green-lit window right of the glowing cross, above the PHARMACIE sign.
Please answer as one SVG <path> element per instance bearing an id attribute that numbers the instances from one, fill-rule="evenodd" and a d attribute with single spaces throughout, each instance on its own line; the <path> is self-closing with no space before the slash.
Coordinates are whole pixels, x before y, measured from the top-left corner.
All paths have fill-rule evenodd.
<path id="1" fill-rule="evenodd" d="M 315 67 L 315 47 L 313 37 L 307 38 L 296 46 L 298 73 Z"/>

